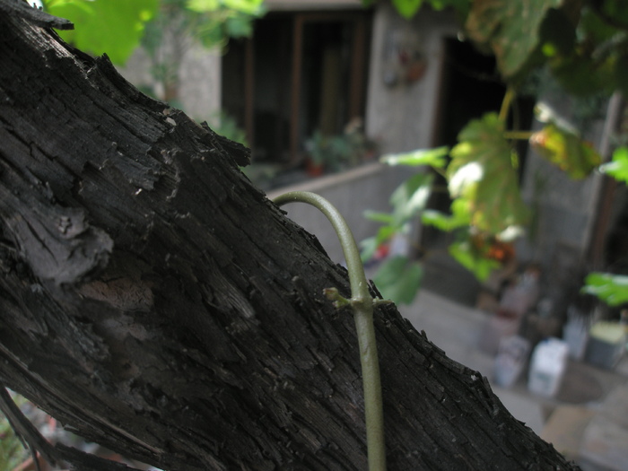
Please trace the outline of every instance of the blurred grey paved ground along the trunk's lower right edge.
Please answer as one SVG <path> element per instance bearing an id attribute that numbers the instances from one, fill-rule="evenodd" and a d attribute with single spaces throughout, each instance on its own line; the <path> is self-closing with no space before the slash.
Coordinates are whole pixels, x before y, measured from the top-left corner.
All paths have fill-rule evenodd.
<path id="1" fill-rule="evenodd" d="M 628 470 L 626 355 L 614 371 L 570 361 L 556 396 L 539 397 L 528 391 L 526 371 L 511 388 L 494 386 L 493 356 L 478 347 L 488 313 L 427 290 L 400 310 L 450 358 L 486 376 L 511 414 L 584 471 Z"/>

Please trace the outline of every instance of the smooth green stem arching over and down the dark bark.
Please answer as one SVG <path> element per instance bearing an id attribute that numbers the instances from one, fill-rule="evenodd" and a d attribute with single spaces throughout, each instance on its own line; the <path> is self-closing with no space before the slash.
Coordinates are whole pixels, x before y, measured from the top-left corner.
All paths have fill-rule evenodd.
<path id="1" fill-rule="evenodd" d="M 275 198 L 276 205 L 301 202 L 312 205 L 327 216 L 331 222 L 345 254 L 349 281 L 351 283 L 351 305 L 353 319 L 360 345 L 362 384 L 364 388 L 364 413 L 366 414 L 366 443 L 369 453 L 369 471 L 386 470 L 386 446 L 384 442 L 384 410 L 381 401 L 381 381 L 375 327 L 373 326 L 373 299 L 364 275 L 362 258 L 353 234 L 345 218 L 338 213 L 327 199 L 308 191 L 292 191 Z"/>

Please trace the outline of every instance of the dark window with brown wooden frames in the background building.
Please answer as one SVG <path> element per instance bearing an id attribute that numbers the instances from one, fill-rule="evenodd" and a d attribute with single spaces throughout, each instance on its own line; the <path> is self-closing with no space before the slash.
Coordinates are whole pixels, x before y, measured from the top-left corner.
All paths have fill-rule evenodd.
<path id="1" fill-rule="evenodd" d="M 268 13 L 222 60 L 222 109 L 257 162 L 294 166 L 316 130 L 342 133 L 363 116 L 370 13 Z"/>

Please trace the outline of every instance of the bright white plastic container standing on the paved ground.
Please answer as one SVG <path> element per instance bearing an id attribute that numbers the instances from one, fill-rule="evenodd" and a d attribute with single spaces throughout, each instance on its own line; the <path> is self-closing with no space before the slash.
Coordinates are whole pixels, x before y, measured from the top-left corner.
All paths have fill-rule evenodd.
<path id="1" fill-rule="evenodd" d="M 558 338 L 547 338 L 536 345 L 530 359 L 528 389 L 539 396 L 554 397 L 561 386 L 568 353 L 569 346 Z"/>

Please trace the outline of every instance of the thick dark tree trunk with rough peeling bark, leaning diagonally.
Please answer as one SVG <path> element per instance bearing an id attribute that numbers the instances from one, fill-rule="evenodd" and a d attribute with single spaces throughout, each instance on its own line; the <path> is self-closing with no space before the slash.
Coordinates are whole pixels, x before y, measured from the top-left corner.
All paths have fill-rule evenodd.
<path id="1" fill-rule="evenodd" d="M 345 270 L 240 173 L 243 148 L 13 4 L 0 0 L 0 383 L 167 470 L 365 469 L 353 319 L 322 295 L 349 294 Z M 573 467 L 394 307 L 375 322 L 389 469 Z"/>

